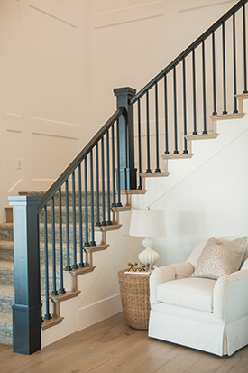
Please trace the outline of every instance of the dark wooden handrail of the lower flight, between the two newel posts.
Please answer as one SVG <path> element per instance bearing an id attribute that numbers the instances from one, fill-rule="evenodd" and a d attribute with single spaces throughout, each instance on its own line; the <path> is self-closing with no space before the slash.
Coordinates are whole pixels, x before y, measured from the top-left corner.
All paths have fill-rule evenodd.
<path id="1" fill-rule="evenodd" d="M 99 142 L 99 140 L 103 137 L 103 135 L 106 134 L 107 130 L 113 126 L 115 121 L 124 115 L 125 107 L 118 107 L 118 109 L 115 111 L 112 117 L 110 117 L 104 126 L 102 126 L 98 132 L 96 132 L 96 135 L 92 137 L 92 139 L 87 143 L 87 145 L 82 149 L 82 151 L 76 156 L 76 158 L 69 163 L 69 166 L 65 169 L 63 173 L 60 174 L 59 178 L 54 182 L 50 189 L 45 192 L 41 199 L 41 203 L 37 208 L 37 212 L 39 213 L 44 206 L 51 200 L 51 197 L 54 196 L 54 194 L 59 191 L 60 186 L 69 178 L 71 173 L 73 173 L 74 170 L 78 167 L 78 164 L 81 163 L 87 156 L 87 154 L 90 153 L 90 151 L 94 148 L 96 143 Z"/>

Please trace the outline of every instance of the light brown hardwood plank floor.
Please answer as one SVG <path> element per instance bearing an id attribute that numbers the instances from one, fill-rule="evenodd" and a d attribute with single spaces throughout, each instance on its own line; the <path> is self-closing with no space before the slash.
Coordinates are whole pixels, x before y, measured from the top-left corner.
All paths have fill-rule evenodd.
<path id="1" fill-rule="evenodd" d="M 0 372 L 93 373 L 245 373 L 248 346 L 231 357 L 217 357 L 147 337 L 130 328 L 123 313 L 98 322 L 31 356 L 0 344 Z"/>

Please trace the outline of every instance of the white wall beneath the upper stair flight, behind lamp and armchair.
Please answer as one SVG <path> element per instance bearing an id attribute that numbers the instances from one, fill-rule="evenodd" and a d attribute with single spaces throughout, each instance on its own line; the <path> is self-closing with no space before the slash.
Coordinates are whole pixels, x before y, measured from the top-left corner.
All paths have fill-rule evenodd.
<path id="1" fill-rule="evenodd" d="M 244 101 L 244 112 L 247 109 L 248 102 Z M 153 245 L 161 256 L 158 266 L 187 260 L 197 243 L 211 236 L 248 236 L 247 116 L 219 121 L 217 129 L 221 142 L 208 140 L 208 146 L 212 143 L 222 146 L 219 149 L 215 146 L 205 162 L 188 175 L 182 171 L 179 182 L 166 185 L 160 195 L 157 193 L 153 198 L 149 195 L 150 188 L 157 187 L 156 180 L 147 187 L 147 196 L 142 200 L 133 197 L 133 208 L 149 205 L 165 211 L 166 236 L 154 238 Z M 201 146 L 205 147 L 202 141 L 193 146 L 196 157 Z"/>

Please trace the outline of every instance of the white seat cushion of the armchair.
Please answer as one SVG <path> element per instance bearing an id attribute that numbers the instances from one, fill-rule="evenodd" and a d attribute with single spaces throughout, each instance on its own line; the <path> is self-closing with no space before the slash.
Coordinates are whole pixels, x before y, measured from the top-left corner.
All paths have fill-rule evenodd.
<path id="1" fill-rule="evenodd" d="M 160 284 L 157 299 L 161 303 L 213 312 L 216 281 L 207 278 L 183 278 Z"/>

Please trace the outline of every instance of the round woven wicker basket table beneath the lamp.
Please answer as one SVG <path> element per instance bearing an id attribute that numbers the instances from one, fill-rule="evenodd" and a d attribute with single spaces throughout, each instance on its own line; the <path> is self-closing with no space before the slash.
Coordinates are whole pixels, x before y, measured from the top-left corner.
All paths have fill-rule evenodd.
<path id="1" fill-rule="evenodd" d="M 118 272 L 124 319 L 133 329 L 148 329 L 150 315 L 150 275 Z"/>

